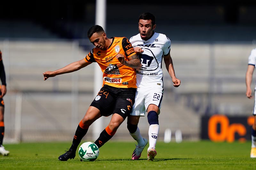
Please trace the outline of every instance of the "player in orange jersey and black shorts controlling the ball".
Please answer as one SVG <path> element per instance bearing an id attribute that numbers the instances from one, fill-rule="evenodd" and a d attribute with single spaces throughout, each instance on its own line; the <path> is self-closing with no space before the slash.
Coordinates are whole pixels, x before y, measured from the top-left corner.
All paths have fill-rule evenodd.
<path id="1" fill-rule="evenodd" d="M 114 136 L 117 128 L 132 111 L 134 103 L 137 88 L 135 69 L 139 69 L 141 63 L 132 44 L 125 37 L 107 38 L 103 28 L 98 25 L 92 26 L 87 36 L 96 48 L 93 48 L 84 59 L 59 70 L 43 73 L 46 80 L 49 77 L 80 70 L 93 62 L 97 62 L 103 72 L 103 87 L 79 123 L 71 147 L 60 155 L 61 161 L 75 158 L 79 143 L 94 121 L 101 116 L 113 114 L 106 129 L 94 142 L 100 148 Z"/>

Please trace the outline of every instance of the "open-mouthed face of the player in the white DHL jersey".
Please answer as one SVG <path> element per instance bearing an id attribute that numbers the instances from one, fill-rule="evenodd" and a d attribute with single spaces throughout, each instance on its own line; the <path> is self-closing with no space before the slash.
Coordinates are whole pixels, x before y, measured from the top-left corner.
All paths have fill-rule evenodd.
<path id="1" fill-rule="evenodd" d="M 156 25 L 152 25 L 150 20 L 139 20 L 139 32 L 142 40 L 148 40 L 148 38 L 152 35 L 153 30 L 156 28 Z"/>

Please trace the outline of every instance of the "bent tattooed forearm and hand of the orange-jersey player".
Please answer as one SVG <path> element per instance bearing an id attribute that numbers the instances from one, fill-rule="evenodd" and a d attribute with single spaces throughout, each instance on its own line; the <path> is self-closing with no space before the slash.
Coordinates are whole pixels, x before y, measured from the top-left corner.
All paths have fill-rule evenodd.
<path id="1" fill-rule="evenodd" d="M 116 58 L 118 61 L 128 67 L 134 68 L 134 69 L 140 69 L 142 66 L 140 63 L 140 59 L 137 54 L 132 55 L 131 57 L 128 58 L 129 61 L 125 61 L 124 55 L 123 54 L 117 54 Z"/>

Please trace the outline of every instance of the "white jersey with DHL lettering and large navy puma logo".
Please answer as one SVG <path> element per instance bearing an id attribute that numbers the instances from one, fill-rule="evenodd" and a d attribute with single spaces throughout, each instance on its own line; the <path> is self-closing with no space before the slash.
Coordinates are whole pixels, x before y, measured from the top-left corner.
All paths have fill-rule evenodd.
<path id="1" fill-rule="evenodd" d="M 130 38 L 133 48 L 140 47 L 144 51 L 139 55 L 142 67 L 136 69 L 137 87 L 159 86 L 163 88 L 162 60 L 171 50 L 171 41 L 166 35 L 154 33 L 145 41 L 137 34 Z"/>

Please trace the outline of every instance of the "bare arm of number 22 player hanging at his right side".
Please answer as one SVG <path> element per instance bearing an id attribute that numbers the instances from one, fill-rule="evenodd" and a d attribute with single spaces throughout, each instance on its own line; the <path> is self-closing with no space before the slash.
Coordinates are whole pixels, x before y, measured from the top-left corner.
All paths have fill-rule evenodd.
<path id="1" fill-rule="evenodd" d="M 164 56 L 164 63 L 166 66 L 166 69 L 169 73 L 169 75 L 172 78 L 173 86 L 174 87 L 179 87 L 180 86 L 180 80 L 176 78 L 174 68 L 173 68 L 173 63 L 172 63 L 172 57 L 169 53 L 169 55 Z"/>

